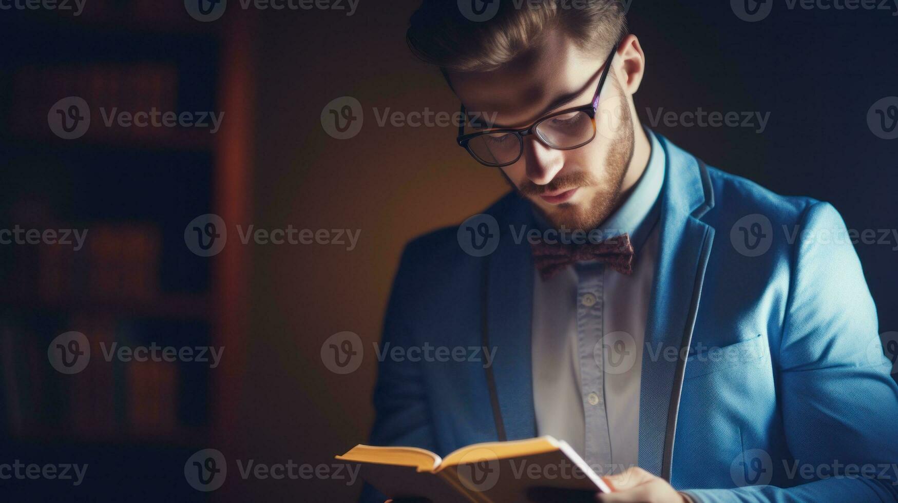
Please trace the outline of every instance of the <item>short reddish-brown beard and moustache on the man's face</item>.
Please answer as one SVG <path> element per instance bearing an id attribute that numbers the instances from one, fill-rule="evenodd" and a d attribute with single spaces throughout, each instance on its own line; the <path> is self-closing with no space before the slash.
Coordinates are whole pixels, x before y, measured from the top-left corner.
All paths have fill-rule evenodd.
<path id="1" fill-rule="evenodd" d="M 616 80 L 612 80 L 612 84 L 615 87 L 620 86 Z M 525 199 L 530 199 L 533 207 L 556 229 L 589 232 L 602 224 L 618 207 L 622 196 L 623 179 L 629 169 L 635 147 L 633 116 L 626 104 L 621 106 L 621 110 L 618 127 L 620 134 L 612 140 L 608 153 L 605 155 L 602 180 L 597 178 L 591 170 L 582 170 L 557 176 L 546 185 L 537 185 L 533 181 L 527 180 L 524 181 L 522 187 L 516 187 L 506 177 L 515 190 Z M 576 187 L 595 188 L 593 198 L 584 205 L 562 203 L 554 207 L 551 212 L 544 211 L 533 202 L 543 192 Z"/>

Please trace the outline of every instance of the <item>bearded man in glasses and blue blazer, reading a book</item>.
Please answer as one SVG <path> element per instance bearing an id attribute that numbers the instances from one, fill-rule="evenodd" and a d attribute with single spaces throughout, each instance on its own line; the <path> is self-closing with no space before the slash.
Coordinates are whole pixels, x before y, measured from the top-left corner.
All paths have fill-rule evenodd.
<path id="1" fill-rule="evenodd" d="M 424 0 L 409 46 L 495 114 L 458 141 L 514 190 L 409 244 L 383 344 L 495 357 L 385 359 L 371 443 L 551 435 L 601 501 L 898 499 L 898 387 L 836 210 L 643 128 L 618 2 L 466 4 Z"/>

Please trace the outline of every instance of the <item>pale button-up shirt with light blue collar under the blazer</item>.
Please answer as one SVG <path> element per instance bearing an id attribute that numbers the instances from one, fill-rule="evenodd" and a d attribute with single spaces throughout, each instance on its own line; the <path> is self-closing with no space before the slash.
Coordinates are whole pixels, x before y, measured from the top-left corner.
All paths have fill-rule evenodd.
<path id="1" fill-rule="evenodd" d="M 638 462 L 639 384 L 658 252 L 665 152 L 651 155 L 629 198 L 599 227 L 629 233 L 633 274 L 579 262 L 543 281 L 533 271 L 533 402 L 539 435 L 565 440 L 600 475 Z"/>

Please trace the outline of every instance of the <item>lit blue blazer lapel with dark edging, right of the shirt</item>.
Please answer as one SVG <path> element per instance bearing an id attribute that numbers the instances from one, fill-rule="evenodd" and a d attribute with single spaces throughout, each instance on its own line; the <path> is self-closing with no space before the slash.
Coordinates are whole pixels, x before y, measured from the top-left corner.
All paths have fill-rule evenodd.
<path id="1" fill-rule="evenodd" d="M 700 217 L 714 200 L 704 163 L 664 137 L 658 139 L 665 148 L 667 166 L 660 248 L 642 356 L 638 463 L 670 481 L 685 357 L 714 238 L 714 228 Z M 669 348 L 676 349 L 677 357 L 665 357 Z"/>

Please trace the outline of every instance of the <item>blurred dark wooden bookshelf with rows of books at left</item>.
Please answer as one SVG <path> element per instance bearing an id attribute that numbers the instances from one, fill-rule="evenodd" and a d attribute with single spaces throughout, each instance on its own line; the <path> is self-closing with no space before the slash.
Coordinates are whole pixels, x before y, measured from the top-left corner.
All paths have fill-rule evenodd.
<path id="1" fill-rule="evenodd" d="M 226 442 L 240 393 L 245 251 L 199 257 L 196 216 L 249 218 L 251 18 L 197 22 L 183 2 L 91 0 L 72 17 L 0 16 L 0 229 L 86 230 L 83 247 L 0 244 L 0 437 L 158 463 Z M 48 112 L 225 111 L 222 128 L 53 134 Z M 73 237 L 74 241 L 74 237 Z M 48 345 L 84 333 L 90 364 L 57 372 Z M 222 365 L 104 359 L 111 345 L 224 347 Z M 41 448 L 43 448 L 41 447 Z M 160 451 L 160 448 L 163 450 Z M 119 453 L 119 454 L 115 454 Z M 140 456 L 137 456 L 138 458 Z M 186 458 L 184 458 L 186 459 Z M 181 462 L 182 463 L 182 462 Z"/>

